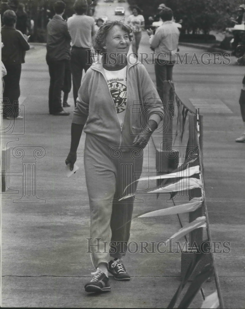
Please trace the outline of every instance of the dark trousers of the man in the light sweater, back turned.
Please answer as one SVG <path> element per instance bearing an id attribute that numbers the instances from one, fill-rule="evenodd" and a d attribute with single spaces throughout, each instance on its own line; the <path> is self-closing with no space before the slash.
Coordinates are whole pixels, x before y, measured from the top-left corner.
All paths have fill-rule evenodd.
<path id="1" fill-rule="evenodd" d="M 75 106 L 77 104 L 78 90 L 81 86 L 82 70 L 84 69 L 87 72 L 87 69 L 92 64 L 91 57 L 91 49 L 74 46 L 71 48 L 71 74 Z"/>

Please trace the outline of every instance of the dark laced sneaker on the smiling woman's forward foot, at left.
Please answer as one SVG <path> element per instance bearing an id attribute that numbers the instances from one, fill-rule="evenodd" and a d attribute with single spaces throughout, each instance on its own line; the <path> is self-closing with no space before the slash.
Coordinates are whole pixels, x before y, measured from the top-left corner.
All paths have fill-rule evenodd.
<path id="1" fill-rule="evenodd" d="M 99 269 L 97 268 L 95 273 L 91 273 L 93 275 L 93 279 L 85 284 L 86 292 L 109 292 L 111 290 L 109 284 L 109 278 Z"/>

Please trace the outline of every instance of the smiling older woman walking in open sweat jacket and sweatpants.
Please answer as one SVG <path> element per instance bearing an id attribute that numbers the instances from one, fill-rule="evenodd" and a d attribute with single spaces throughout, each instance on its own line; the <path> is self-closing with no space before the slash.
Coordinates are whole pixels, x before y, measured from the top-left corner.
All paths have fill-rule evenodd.
<path id="1" fill-rule="evenodd" d="M 85 285 L 87 292 L 110 291 L 108 270 L 116 280 L 130 280 L 122 256 L 127 251 L 136 186 L 129 186 L 132 197 L 119 199 L 126 186 L 140 177 L 143 148 L 163 118 L 162 101 L 145 67 L 135 57 L 127 57 L 131 37 L 132 29 L 118 21 L 99 28 L 94 47 L 102 57 L 84 76 L 71 125 L 70 152 L 65 160 L 71 171 L 82 130 L 86 133 L 89 250 L 97 268 Z M 132 109 L 135 102 L 138 112 Z M 142 121 L 143 111 L 148 116 Z"/>

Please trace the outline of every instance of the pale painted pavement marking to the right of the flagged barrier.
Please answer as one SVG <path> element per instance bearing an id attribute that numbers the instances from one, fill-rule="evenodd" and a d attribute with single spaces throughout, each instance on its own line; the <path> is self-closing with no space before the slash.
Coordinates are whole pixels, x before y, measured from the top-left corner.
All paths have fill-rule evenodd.
<path id="1" fill-rule="evenodd" d="M 220 99 L 189 99 L 200 113 L 233 114 L 233 112 Z"/>

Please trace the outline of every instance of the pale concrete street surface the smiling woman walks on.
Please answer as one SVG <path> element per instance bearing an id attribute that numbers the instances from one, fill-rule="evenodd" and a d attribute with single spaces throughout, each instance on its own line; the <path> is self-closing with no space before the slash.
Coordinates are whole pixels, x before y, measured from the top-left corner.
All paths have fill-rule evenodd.
<path id="1" fill-rule="evenodd" d="M 139 51 L 150 53 L 145 32 Z M 189 53 L 188 63 L 194 53 L 201 59 L 203 52 L 180 47 L 181 57 Z M 245 144 L 234 142 L 242 131 L 238 99 L 244 67 L 235 66 L 234 58 L 230 60 L 229 65 L 176 65 L 174 82 L 179 97 L 200 107 L 204 115 L 205 190 L 211 232 L 213 240 L 231 242 L 229 254 L 215 255 L 221 288 L 226 308 L 244 308 Z M 146 68 L 155 80 L 153 65 L 146 63 Z M 89 237 L 82 163 L 84 136 L 78 149 L 80 169 L 67 179 L 64 160 L 69 150 L 72 115 L 48 114 L 48 87 L 45 46 L 36 45 L 27 52 L 21 77 L 24 121 L 16 123 L 14 132 L 3 140 L 12 150 L 21 146 L 25 157 L 21 159 L 20 152 L 15 152 L 15 157 L 11 153 L 15 176 L 9 179 L 9 189 L 2 197 L 2 306 L 166 307 L 180 283 L 180 254 L 129 254 L 125 264 L 132 275 L 130 282 L 111 280 L 110 295 L 91 297 L 84 292 L 83 284 L 91 272 L 89 256 L 84 252 Z M 73 104 L 72 91 L 69 102 Z M 72 112 L 73 108 L 67 110 Z M 3 125 L 10 123 L 4 120 Z M 45 156 L 36 161 L 32 155 L 35 146 L 45 150 Z M 21 175 L 26 159 L 36 166 L 39 200 L 35 203 L 13 201 L 22 197 Z M 148 154 L 146 151 L 144 168 L 154 170 L 152 150 Z M 144 204 L 135 204 L 134 214 L 153 207 L 160 209 L 163 204 L 163 199 L 151 196 Z M 188 221 L 185 215 L 181 219 L 183 223 Z M 131 240 L 161 241 L 179 228 L 176 216 L 142 218 L 133 221 Z M 205 295 L 213 291 L 213 282 L 205 284 Z M 200 307 L 201 301 L 198 294 L 192 307 Z"/>

